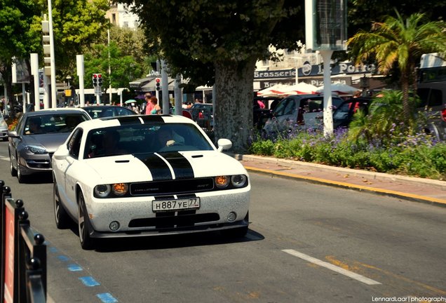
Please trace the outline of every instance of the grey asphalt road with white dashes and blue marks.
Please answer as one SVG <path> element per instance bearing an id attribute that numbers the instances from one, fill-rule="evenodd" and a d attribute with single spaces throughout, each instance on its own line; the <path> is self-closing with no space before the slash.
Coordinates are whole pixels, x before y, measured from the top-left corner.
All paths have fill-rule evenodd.
<path id="1" fill-rule="evenodd" d="M 76 226 L 55 228 L 50 178 L 19 184 L 6 145 L 0 180 L 48 241 L 54 302 L 446 302 L 446 208 L 251 173 L 246 238 L 132 238 L 85 251 Z"/>

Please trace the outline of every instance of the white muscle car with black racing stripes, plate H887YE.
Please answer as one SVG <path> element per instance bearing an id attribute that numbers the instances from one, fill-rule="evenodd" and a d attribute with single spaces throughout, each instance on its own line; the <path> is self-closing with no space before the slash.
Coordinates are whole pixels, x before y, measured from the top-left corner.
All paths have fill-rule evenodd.
<path id="1" fill-rule="evenodd" d="M 113 140 L 114 139 L 114 140 Z M 248 231 L 243 165 L 184 116 L 80 123 L 53 155 L 55 223 L 74 220 L 81 247 L 97 238 Z"/>

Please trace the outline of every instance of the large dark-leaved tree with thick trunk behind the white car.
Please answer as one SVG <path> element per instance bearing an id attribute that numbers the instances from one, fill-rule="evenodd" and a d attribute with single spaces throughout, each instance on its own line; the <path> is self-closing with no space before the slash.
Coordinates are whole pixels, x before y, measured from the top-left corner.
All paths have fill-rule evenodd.
<path id="1" fill-rule="evenodd" d="M 147 40 L 174 75 L 197 84 L 212 84 L 215 76 L 215 137 L 230 138 L 234 150 L 244 152 L 252 131 L 255 62 L 269 55 L 271 43 L 297 48 L 304 36 L 304 1 L 119 2 L 135 4 Z"/>

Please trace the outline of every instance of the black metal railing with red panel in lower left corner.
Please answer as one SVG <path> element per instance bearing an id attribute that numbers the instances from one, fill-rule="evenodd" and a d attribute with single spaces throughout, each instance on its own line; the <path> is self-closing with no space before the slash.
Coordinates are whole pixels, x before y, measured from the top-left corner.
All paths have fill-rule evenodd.
<path id="1" fill-rule="evenodd" d="M 0 180 L 1 301 L 46 302 L 46 244 L 34 234 L 23 201 Z"/>

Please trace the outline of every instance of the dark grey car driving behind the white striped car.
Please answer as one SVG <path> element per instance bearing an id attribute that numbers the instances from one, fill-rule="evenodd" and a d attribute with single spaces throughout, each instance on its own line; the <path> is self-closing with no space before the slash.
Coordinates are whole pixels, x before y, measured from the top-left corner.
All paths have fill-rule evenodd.
<path id="1" fill-rule="evenodd" d="M 20 116 L 8 132 L 12 176 L 23 183 L 32 174 L 51 172 L 51 156 L 81 121 L 90 120 L 79 108 L 42 109 Z"/>

